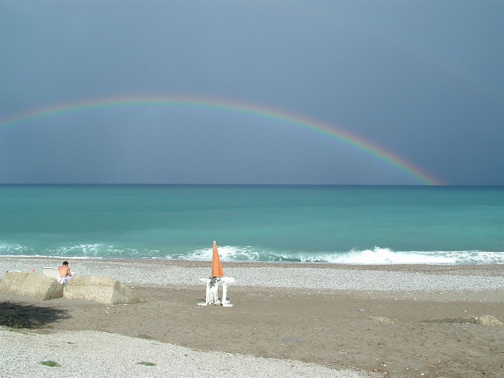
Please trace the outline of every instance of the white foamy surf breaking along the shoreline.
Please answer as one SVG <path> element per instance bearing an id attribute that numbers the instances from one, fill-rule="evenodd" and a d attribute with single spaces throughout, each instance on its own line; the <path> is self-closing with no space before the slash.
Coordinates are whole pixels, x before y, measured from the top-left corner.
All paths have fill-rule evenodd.
<path id="1" fill-rule="evenodd" d="M 162 249 L 137 249 L 103 243 L 83 243 L 59 246 L 54 249 L 35 251 L 20 244 L 0 243 L 2 256 L 58 257 L 79 259 L 165 259 L 201 260 L 212 259 L 212 248 L 188 251 Z M 272 251 L 252 246 L 219 246 L 219 255 L 224 261 L 239 262 L 286 262 L 330 264 L 504 264 L 502 251 L 394 251 L 387 247 L 374 247 L 350 251 Z"/>

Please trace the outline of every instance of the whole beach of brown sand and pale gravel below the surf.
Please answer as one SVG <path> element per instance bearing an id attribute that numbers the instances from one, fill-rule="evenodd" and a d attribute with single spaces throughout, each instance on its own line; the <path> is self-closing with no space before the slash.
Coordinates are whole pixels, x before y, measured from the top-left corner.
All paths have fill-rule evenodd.
<path id="1" fill-rule="evenodd" d="M 88 361 L 82 368 L 94 370 L 81 376 L 137 369 L 177 377 L 498 377 L 504 371 L 503 265 L 223 262 L 225 275 L 236 280 L 228 288 L 234 306 L 225 308 L 197 305 L 204 301 L 200 279 L 210 275 L 208 261 L 67 260 L 77 275 L 116 278 L 144 301 L 107 306 L 0 295 L 6 326 L 0 332 L 10 340 L 1 343 L 0 360 L 9 361 L 0 362 L 1 376 L 26 375 L 28 360 L 34 376 L 75 375 L 74 362 L 83 356 L 100 362 Z M 2 257 L 0 278 L 8 269 L 41 272 L 60 263 Z M 69 344 L 58 345 L 62 339 Z M 28 358 L 33 343 L 45 353 L 40 358 L 62 366 Z M 76 349 L 74 362 L 65 348 Z M 12 352 L 17 357 L 6 359 Z M 190 367 L 181 369 L 184 358 Z"/>

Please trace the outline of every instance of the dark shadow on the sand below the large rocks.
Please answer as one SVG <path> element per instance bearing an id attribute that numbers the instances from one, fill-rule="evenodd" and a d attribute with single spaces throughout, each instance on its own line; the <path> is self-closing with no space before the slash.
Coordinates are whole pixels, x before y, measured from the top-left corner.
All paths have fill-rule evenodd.
<path id="1" fill-rule="evenodd" d="M 49 323 L 67 318 L 70 318 L 70 316 L 66 309 L 0 302 L 1 326 L 42 328 Z"/>

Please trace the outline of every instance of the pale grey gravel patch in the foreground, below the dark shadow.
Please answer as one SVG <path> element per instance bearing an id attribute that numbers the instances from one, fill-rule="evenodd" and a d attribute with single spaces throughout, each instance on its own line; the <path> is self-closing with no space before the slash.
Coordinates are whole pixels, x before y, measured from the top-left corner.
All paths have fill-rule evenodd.
<path id="1" fill-rule="evenodd" d="M 59 366 L 45 366 L 54 361 Z M 151 363 L 154 365 L 145 365 Z M 203 352 L 98 331 L 39 334 L 0 329 L 1 377 L 339 377 L 372 376 L 293 360 Z"/>

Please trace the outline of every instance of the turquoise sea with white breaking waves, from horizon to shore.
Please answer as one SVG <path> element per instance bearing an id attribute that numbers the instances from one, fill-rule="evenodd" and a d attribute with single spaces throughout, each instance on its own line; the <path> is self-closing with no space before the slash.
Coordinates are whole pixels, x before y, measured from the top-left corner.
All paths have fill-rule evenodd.
<path id="1" fill-rule="evenodd" d="M 504 264 L 504 186 L 0 185 L 0 258 Z"/>

